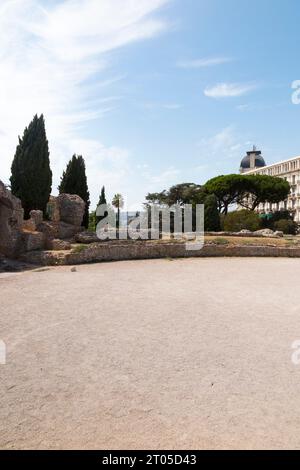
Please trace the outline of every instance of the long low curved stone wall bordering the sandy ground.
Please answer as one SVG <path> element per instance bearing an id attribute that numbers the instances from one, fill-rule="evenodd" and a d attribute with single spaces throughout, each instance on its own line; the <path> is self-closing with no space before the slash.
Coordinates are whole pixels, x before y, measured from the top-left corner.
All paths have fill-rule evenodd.
<path id="1" fill-rule="evenodd" d="M 55 266 L 137 259 L 206 257 L 300 258 L 300 248 L 205 245 L 202 250 L 187 251 L 184 243 L 96 243 L 88 247 L 82 247 L 79 252 L 44 251 L 27 253 L 23 260 L 34 264 Z"/>

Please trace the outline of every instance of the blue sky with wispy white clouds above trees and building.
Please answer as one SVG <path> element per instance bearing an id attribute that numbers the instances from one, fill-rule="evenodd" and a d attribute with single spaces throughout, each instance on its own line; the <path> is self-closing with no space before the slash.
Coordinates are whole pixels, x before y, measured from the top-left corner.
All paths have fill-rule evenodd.
<path id="1" fill-rule="evenodd" d="M 73 153 L 130 209 L 148 191 L 300 154 L 298 0 L 1 0 L 0 179 L 43 112 L 53 193 Z"/>

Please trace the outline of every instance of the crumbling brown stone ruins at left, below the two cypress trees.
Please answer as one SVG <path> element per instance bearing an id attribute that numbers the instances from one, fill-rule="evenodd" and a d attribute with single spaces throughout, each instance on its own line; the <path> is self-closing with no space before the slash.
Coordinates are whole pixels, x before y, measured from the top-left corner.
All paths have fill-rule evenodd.
<path id="1" fill-rule="evenodd" d="M 69 250 L 81 226 L 84 201 L 77 195 L 51 196 L 47 220 L 42 211 L 30 212 L 24 221 L 21 201 L 0 181 L 0 254 L 17 258 L 34 250 Z"/>

